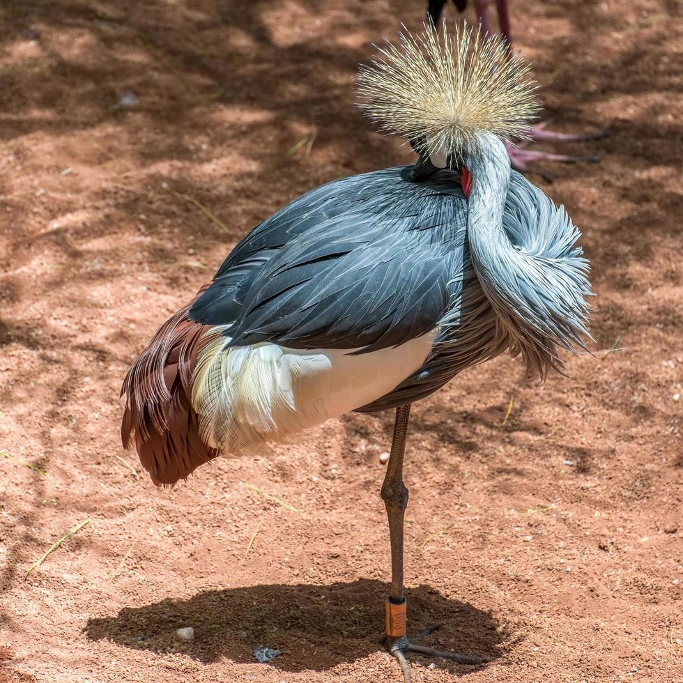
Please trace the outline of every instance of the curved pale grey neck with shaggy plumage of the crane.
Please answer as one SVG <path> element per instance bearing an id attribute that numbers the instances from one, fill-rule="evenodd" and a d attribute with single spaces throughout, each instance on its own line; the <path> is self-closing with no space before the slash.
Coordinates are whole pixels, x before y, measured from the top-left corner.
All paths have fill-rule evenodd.
<path id="1" fill-rule="evenodd" d="M 496 313 L 496 335 L 507 337 L 510 350 L 523 355 L 528 371 L 544 378 L 548 369 L 562 368 L 558 347 L 583 346 L 581 336 L 586 334 L 584 297 L 589 285 L 581 250 L 574 247 L 579 233 L 564 210 L 538 192 L 537 206 L 525 212 L 530 220 L 535 213 L 535 230 L 512 243 L 504 220 L 511 191 L 505 146 L 495 135 L 479 132 L 468 148 L 466 164 L 472 174 L 470 252 Z"/>

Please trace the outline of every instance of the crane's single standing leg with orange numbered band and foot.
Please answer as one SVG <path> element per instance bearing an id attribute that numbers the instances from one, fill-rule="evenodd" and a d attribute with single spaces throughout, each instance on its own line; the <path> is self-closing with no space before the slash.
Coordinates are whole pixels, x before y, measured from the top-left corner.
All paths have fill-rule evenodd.
<path id="1" fill-rule="evenodd" d="M 481 657 L 468 657 L 454 652 L 442 652 L 432 647 L 415 645 L 406 636 L 406 596 L 404 594 L 403 556 L 404 556 L 404 516 L 408 507 L 408 489 L 403 482 L 403 461 L 406 452 L 406 433 L 410 418 L 410 404 L 396 409 L 394 436 L 392 438 L 387 473 L 382 484 L 381 496 L 387 508 L 389 536 L 391 540 L 391 592 L 385 606 L 385 645 L 396 657 L 404 675 L 404 682 L 410 683 L 412 674 L 408 657 L 437 657 L 450 659 L 462 664 L 482 664 L 488 660 Z M 429 627 L 413 638 L 427 636 L 437 627 Z"/>

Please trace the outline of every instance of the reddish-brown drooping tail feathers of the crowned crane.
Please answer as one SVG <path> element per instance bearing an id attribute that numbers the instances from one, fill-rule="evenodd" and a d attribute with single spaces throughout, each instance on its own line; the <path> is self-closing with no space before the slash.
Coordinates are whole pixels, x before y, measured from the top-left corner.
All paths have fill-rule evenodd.
<path id="1" fill-rule="evenodd" d="M 199 438 L 192 408 L 192 372 L 209 327 L 187 319 L 191 305 L 162 325 L 121 388 L 123 447 L 135 443 L 142 466 L 157 486 L 172 486 L 218 455 Z"/>

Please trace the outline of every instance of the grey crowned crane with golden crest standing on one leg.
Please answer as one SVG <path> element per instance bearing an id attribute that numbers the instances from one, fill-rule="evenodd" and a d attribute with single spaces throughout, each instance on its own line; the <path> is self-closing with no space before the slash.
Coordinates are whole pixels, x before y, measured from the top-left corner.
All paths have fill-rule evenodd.
<path id="1" fill-rule="evenodd" d="M 563 351 L 586 348 L 589 263 L 565 209 L 511 169 L 504 140 L 539 102 L 500 37 L 402 29 L 360 67 L 358 98 L 417 161 L 316 187 L 247 233 L 132 364 L 121 436 L 173 486 L 217 456 L 393 409 L 384 643 L 409 683 L 410 657 L 486 661 L 407 634 L 410 406 L 505 352 L 562 371 Z"/>

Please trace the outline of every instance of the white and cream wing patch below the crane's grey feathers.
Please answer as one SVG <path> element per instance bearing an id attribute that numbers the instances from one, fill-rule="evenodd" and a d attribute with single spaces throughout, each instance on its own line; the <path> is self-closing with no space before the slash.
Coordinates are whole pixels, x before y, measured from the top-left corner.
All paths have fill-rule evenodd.
<path id="1" fill-rule="evenodd" d="M 192 404 L 199 433 L 224 455 L 286 443 L 302 431 L 381 398 L 422 366 L 436 330 L 395 348 L 301 350 L 277 344 L 229 348 L 220 328 L 201 351 Z"/>

